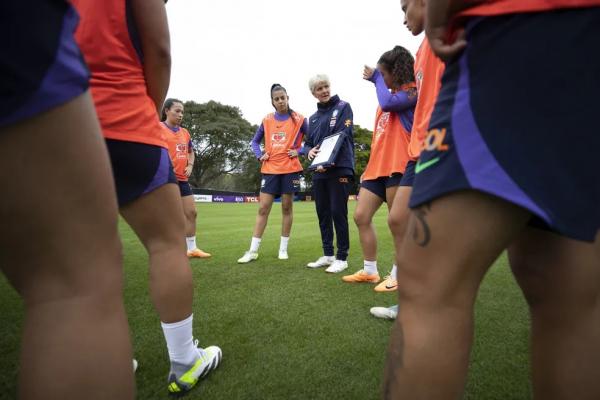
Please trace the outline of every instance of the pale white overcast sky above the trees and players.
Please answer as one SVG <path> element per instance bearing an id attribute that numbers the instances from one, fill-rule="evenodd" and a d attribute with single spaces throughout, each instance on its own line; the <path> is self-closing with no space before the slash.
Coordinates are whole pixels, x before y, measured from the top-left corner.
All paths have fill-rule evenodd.
<path id="1" fill-rule="evenodd" d="M 260 124 L 273 111 L 269 88 L 282 84 L 290 106 L 316 110 L 308 79 L 329 75 L 354 122 L 373 129 L 377 98 L 363 65 L 399 44 L 413 55 L 422 40 L 402 24 L 399 0 L 171 0 L 173 67 L 169 97 L 237 106 Z"/>

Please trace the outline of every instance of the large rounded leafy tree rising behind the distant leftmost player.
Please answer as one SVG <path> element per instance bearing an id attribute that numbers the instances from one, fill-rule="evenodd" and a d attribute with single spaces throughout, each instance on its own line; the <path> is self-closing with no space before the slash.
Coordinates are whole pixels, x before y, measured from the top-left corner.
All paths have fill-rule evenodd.
<path id="1" fill-rule="evenodd" d="M 242 172 L 255 129 L 239 108 L 215 101 L 187 101 L 182 125 L 189 130 L 195 147 L 196 162 L 190 177 L 193 186 L 211 187 L 222 175 Z"/>

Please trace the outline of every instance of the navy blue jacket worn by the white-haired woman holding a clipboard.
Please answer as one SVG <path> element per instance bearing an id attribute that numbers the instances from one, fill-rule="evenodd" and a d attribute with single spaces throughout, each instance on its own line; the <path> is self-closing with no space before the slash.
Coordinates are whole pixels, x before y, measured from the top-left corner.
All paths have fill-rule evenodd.
<path id="1" fill-rule="evenodd" d="M 318 145 L 327 136 L 343 132 L 344 143 L 335 160 L 335 167 L 315 172 L 313 179 L 354 175 L 354 123 L 350 104 L 335 95 L 327 103 L 317 103 L 317 112 L 308 119 L 308 135 L 302 153 Z"/>

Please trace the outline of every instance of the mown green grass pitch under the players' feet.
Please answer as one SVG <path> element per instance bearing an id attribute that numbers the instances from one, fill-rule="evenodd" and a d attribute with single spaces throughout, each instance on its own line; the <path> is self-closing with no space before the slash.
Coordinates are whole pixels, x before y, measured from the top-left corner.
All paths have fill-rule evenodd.
<path id="1" fill-rule="evenodd" d="M 369 308 L 395 303 L 395 294 L 352 285 L 305 267 L 321 255 L 313 203 L 294 204 L 290 260 L 277 259 L 280 207 L 273 207 L 260 258 L 238 265 L 247 250 L 256 204 L 199 204 L 198 242 L 213 254 L 193 260 L 194 331 L 201 345 L 217 344 L 223 363 L 189 399 L 378 399 L 391 322 Z M 354 204 L 350 204 L 350 213 Z M 376 215 L 379 270 L 392 262 L 387 211 Z M 348 259 L 362 266 L 351 223 Z M 124 242 L 125 304 L 132 331 L 139 399 L 166 398 L 168 356 L 148 295 L 147 256 L 129 229 Z M 93 255 L 90 255 L 93 256 Z M 15 398 L 22 305 L 0 276 L 0 398 Z M 476 309 L 476 336 L 466 399 L 529 399 L 528 315 L 501 257 L 487 275 Z M 59 360 L 57 360 L 59 362 Z M 35 382 L 35 381 L 33 381 Z M 108 383 L 109 384 L 109 383 Z M 85 395 L 81 397 L 85 398 Z"/>

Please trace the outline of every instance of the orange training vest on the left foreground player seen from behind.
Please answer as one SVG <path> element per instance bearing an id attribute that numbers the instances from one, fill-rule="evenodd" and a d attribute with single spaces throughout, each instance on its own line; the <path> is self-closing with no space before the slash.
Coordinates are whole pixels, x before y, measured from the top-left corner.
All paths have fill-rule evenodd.
<path id="1" fill-rule="evenodd" d="M 71 2 L 81 16 L 75 39 L 92 73 L 90 87 L 104 137 L 166 148 L 131 40 L 125 0 Z"/>

